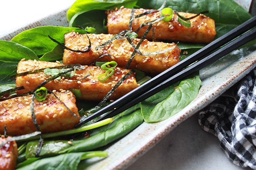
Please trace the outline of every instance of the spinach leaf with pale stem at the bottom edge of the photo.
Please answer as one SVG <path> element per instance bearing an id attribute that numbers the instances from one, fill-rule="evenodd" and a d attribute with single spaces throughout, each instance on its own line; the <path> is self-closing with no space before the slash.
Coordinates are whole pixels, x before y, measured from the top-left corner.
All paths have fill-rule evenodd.
<path id="1" fill-rule="evenodd" d="M 44 158 L 34 161 L 31 164 L 27 164 L 17 170 L 77 170 L 77 166 L 80 160 L 92 158 L 92 157 L 106 157 L 108 153 L 103 151 L 93 151 L 84 153 L 65 153 L 62 155 Z"/>

